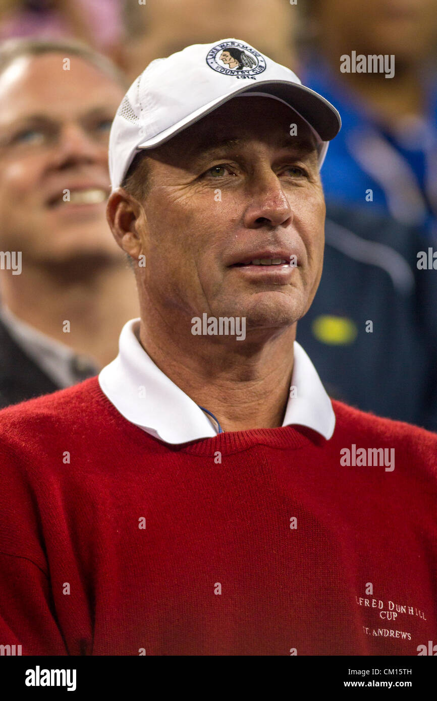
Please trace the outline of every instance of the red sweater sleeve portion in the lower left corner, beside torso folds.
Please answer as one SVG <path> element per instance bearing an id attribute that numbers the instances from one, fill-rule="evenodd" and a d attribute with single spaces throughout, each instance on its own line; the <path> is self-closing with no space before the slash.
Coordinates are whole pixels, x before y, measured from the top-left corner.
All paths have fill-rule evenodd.
<path id="1" fill-rule="evenodd" d="M 67 655 L 48 578 L 26 557 L 0 552 L 0 644 L 22 655 Z M 18 652 L 16 652 L 18 654 Z"/>

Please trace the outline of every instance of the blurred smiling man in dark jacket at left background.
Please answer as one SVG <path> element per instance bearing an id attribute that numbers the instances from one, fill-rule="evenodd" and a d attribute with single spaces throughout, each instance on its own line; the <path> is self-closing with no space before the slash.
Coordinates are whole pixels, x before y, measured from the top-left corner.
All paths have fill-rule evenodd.
<path id="1" fill-rule="evenodd" d="M 105 213 L 125 90 L 77 43 L 0 48 L 0 406 L 96 374 L 137 313 Z"/>

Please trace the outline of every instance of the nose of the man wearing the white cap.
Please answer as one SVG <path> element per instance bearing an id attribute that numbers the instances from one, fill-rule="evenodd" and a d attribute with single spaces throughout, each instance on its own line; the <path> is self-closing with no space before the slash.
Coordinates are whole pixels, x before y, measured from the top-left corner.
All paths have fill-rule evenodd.
<path id="1" fill-rule="evenodd" d="M 293 211 L 282 189 L 281 182 L 271 168 L 253 174 L 249 187 L 250 204 L 244 224 L 248 229 L 261 226 L 280 226 L 293 220 Z"/>

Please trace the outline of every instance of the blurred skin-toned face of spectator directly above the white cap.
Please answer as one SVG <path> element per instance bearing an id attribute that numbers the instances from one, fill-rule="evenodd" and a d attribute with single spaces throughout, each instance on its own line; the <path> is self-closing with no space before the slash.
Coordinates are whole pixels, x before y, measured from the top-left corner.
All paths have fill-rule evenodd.
<path id="1" fill-rule="evenodd" d="M 155 58 L 193 43 L 239 37 L 274 61 L 294 65 L 295 8 L 283 0 L 125 0 L 126 71 L 133 81 Z"/>

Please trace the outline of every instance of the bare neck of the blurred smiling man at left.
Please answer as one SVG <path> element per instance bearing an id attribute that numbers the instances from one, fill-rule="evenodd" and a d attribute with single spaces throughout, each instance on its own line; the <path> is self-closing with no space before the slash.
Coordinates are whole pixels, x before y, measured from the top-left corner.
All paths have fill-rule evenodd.
<path id="1" fill-rule="evenodd" d="M 20 320 L 100 367 L 116 357 L 121 327 L 138 315 L 135 280 L 123 260 L 27 264 L 25 274 L 4 276 L 1 301 Z"/>

